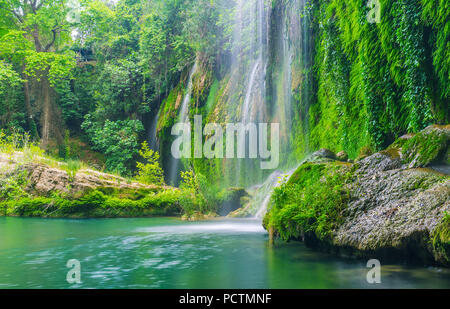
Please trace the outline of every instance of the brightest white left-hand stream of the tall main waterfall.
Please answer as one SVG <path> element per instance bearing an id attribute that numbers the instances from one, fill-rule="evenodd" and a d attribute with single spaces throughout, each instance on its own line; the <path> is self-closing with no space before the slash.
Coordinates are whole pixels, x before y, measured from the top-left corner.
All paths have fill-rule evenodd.
<path id="1" fill-rule="evenodd" d="M 243 124 L 268 122 L 266 102 L 266 68 L 269 8 L 264 0 L 238 1 L 233 36 L 232 72 L 238 71 L 235 88 L 242 90 L 240 117 Z M 241 83 L 244 81 L 244 88 Z M 244 162 L 245 161 L 245 162 Z M 258 161 L 258 162 L 257 162 Z M 237 159 L 235 185 L 261 180 L 257 159 Z"/>

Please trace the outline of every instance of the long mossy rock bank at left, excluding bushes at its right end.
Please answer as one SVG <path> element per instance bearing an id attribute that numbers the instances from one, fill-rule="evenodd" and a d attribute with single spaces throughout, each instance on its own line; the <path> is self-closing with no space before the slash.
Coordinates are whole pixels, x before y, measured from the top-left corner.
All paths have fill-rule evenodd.
<path id="1" fill-rule="evenodd" d="M 39 217 L 180 215 L 177 188 L 143 184 L 25 152 L 0 154 L 0 213 Z"/>

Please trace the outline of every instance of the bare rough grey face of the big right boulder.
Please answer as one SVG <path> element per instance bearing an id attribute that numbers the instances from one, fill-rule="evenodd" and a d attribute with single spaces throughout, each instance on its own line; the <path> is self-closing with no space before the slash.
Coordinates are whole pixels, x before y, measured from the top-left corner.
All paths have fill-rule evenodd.
<path id="1" fill-rule="evenodd" d="M 450 211 L 448 177 L 427 169 L 374 172 L 359 178 L 351 191 L 354 199 L 332 237 L 334 246 L 448 265 L 430 246 L 434 231 Z"/>

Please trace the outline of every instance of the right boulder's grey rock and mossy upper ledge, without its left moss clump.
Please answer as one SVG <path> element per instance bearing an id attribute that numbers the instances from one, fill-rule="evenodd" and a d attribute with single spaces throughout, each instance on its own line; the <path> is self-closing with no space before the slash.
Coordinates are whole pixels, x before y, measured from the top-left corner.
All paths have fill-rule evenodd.
<path id="1" fill-rule="evenodd" d="M 342 176 L 350 198 L 330 235 L 301 239 L 343 255 L 450 266 L 449 136 L 450 126 L 430 126 L 356 163 L 321 163 Z"/>

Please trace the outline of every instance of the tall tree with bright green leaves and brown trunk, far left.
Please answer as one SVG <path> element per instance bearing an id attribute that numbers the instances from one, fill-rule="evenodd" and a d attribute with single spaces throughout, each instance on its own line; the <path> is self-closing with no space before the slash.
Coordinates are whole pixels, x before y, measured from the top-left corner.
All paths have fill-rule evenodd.
<path id="1" fill-rule="evenodd" d="M 5 20 L 0 32 L 0 57 L 22 68 L 27 119 L 32 122 L 33 116 L 40 113 L 44 144 L 52 136 L 60 137 L 51 88 L 60 79 L 70 78 L 75 66 L 73 53 L 65 49 L 71 27 L 66 21 L 69 12 L 66 3 L 67 0 L 0 0 L 0 12 Z M 37 112 L 31 106 L 30 81 L 40 88 Z"/>

